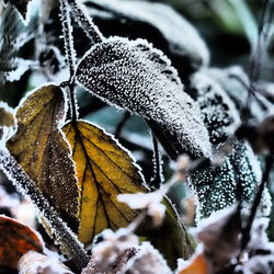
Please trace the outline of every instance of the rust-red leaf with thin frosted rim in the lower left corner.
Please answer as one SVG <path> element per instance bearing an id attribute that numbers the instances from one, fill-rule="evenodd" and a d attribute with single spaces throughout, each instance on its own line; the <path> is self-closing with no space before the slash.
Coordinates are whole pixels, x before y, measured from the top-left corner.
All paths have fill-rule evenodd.
<path id="1" fill-rule="evenodd" d="M 0 216 L 0 265 L 18 269 L 20 258 L 30 250 L 43 252 L 44 243 L 30 227 Z"/>

